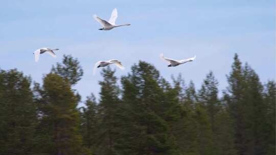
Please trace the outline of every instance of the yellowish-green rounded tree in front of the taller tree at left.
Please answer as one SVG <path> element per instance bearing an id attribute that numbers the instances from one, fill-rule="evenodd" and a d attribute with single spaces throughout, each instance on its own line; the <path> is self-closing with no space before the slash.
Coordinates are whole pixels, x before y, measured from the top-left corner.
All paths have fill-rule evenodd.
<path id="1" fill-rule="evenodd" d="M 81 154 L 80 116 L 76 109 L 79 98 L 71 84 L 58 74 L 47 74 L 42 88 L 36 88 L 39 98 L 42 148 L 48 154 Z"/>

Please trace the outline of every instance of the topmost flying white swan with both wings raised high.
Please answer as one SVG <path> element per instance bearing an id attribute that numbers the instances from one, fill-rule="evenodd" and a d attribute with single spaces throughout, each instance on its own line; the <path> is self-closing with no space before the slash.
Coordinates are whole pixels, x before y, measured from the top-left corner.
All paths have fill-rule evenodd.
<path id="1" fill-rule="evenodd" d="M 122 26 L 125 26 L 125 25 L 130 25 L 129 23 L 122 24 L 122 25 L 115 24 L 115 21 L 116 21 L 117 17 L 118 17 L 118 13 L 117 13 L 116 8 L 112 11 L 111 17 L 108 20 L 108 22 L 106 20 L 101 19 L 96 14 L 94 15 L 94 18 L 103 26 L 103 28 L 99 29 L 99 30 L 111 30 L 113 28 L 122 27 Z"/>

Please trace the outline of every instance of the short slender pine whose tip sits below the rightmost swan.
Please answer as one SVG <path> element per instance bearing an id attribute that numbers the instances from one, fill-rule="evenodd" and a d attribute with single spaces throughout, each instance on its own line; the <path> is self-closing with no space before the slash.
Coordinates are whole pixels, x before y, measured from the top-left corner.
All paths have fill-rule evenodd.
<path id="1" fill-rule="evenodd" d="M 183 117 L 182 123 L 184 125 L 182 139 L 182 153 L 183 154 L 212 154 L 213 153 L 213 139 L 212 126 L 208 116 L 208 112 L 203 108 L 199 102 L 199 94 L 196 93 L 195 85 L 190 81 L 188 88 L 185 89 L 183 106 L 187 111 L 187 115 Z"/>

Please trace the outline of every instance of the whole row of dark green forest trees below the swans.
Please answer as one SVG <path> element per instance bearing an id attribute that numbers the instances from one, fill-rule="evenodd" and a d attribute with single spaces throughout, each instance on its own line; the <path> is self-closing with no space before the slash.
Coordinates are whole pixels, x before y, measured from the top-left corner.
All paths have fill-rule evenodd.
<path id="1" fill-rule="evenodd" d="M 262 84 L 237 55 L 222 97 L 212 71 L 196 90 L 140 61 L 120 79 L 103 69 L 99 101 L 77 108 L 82 75 L 71 56 L 41 85 L 1 70 L 0 154 L 275 154 L 275 82 Z"/>

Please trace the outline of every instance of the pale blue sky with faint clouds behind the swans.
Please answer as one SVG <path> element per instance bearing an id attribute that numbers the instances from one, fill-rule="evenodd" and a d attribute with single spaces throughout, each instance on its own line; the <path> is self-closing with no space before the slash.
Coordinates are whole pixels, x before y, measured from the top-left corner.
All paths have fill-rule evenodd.
<path id="1" fill-rule="evenodd" d="M 111 31 L 99 31 L 93 14 L 109 19 L 118 9 L 117 24 L 131 23 Z M 186 83 L 199 88 L 212 70 L 220 90 L 227 86 L 234 54 L 256 70 L 262 82 L 275 79 L 275 1 L 1 1 L 0 67 L 17 68 L 36 82 L 61 62 L 62 55 L 78 58 L 84 69 L 75 86 L 83 99 L 98 96 L 99 60 L 118 59 L 126 75 L 139 60 L 153 64 L 167 80 L 181 73 Z M 60 48 L 58 57 L 33 51 Z M 167 67 L 159 54 L 172 59 L 197 56 L 192 63 Z M 112 68 L 116 68 L 113 66 Z"/>

